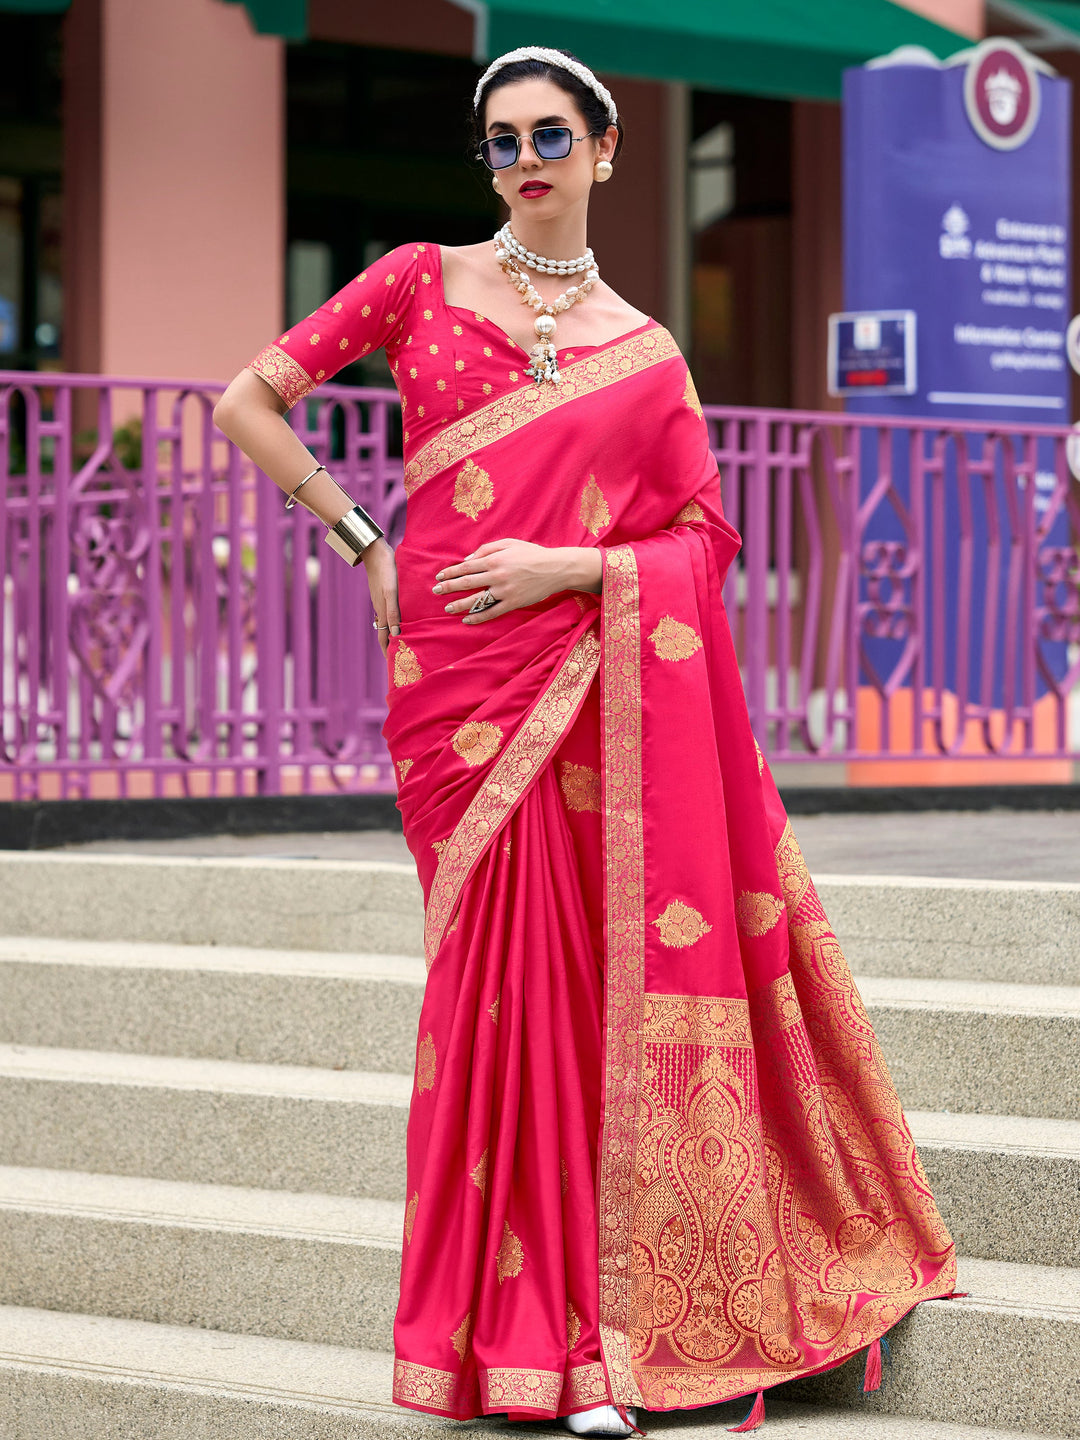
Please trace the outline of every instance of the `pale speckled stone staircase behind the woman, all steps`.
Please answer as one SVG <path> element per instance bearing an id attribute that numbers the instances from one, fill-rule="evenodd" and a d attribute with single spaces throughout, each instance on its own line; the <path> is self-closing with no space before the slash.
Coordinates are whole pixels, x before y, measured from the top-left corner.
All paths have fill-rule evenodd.
<path id="1" fill-rule="evenodd" d="M 1080 886 L 818 888 L 971 1293 L 896 1326 L 883 1391 L 860 1358 L 762 1434 L 1077 1436 Z M 461 1430 L 389 1398 L 410 867 L 3 852 L 0 896 L 0 1440 Z"/>

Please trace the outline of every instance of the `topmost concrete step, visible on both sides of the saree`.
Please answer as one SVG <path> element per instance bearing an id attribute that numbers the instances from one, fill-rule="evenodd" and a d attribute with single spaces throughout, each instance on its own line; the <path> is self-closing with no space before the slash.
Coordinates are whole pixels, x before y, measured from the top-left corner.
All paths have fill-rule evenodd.
<path id="1" fill-rule="evenodd" d="M 1080 884 L 815 876 L 860 975 L 1080 985 Z M 392 861 L 0 851 L 9 935 L 422 953 Z"/>

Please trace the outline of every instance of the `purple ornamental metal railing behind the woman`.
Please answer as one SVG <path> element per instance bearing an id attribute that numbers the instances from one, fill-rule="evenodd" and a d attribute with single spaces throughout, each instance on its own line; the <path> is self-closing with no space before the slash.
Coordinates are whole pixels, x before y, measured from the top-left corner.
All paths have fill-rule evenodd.
<path id="1" fill-rule="evenodd" d="M 217 432 L 219 393 L 0 372 L 0 799 L 393 788 L 363 575 Z M 1067 431 L 706 416 L 770 759 L 1080 757 Z M 291 420 L 399 534 L 393 392 L 325 384 Z"/>

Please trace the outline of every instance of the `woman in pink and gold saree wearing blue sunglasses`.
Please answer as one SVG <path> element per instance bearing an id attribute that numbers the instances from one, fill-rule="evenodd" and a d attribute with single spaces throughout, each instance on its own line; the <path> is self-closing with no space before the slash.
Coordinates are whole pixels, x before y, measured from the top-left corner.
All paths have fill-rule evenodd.
<path id="1" fill-rule="evenodd" d="M 530 48 L 475 115 L 495 251 L 383 256 L 216 412 L 361 557 L 387 654 L 429 966 L 395 1398 L 626 1434 L 757 1392 L 755 1428 L 770 1385 L 870 1372 L 953 1248 L 750 733 L 693 382 L 586 249 L 615 104 Z M 379 346 L 396 553 L 284 420 Z"/>

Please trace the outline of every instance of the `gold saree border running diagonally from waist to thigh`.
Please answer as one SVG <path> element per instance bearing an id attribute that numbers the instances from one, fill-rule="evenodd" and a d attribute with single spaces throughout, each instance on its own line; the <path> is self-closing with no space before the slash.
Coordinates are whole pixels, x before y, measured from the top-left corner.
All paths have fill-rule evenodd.
<path id="1" fill-rule="evenodd" d="M 526 716 L 442 847 L 423 919 L 428 969 L 439 953 L 472 867 L 562 740 L 599 664 L 600 642 L 596 632 L 588 629 Z"/>

